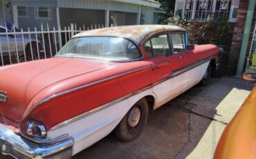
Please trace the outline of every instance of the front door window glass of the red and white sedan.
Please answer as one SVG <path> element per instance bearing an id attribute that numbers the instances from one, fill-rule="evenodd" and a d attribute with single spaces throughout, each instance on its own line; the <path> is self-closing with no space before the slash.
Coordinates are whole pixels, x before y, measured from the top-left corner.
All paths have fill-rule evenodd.
<path id="1" fill-rule="evenodd" d="M 170 34 L 174 53 L 179 53 L 185 50 L 185 33 L 175 32 Z"/>

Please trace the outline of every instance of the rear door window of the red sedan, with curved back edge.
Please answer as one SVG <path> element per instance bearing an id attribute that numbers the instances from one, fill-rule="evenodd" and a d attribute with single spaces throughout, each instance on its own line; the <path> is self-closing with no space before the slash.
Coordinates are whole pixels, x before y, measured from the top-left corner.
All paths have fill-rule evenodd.
<path id="1" fill-rule="evenodd" d="M 144 44 L 144 48 L 149 57 L 167 57 L 170 55 L 170 46 L 167 35 L 157 35 L 156 37 L 149 39 L 149 41 Z"/>

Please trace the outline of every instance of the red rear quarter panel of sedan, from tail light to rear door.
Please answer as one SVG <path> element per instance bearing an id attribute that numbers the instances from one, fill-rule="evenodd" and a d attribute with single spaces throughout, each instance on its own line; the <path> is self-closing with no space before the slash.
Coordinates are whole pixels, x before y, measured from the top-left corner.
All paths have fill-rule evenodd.
<path id="1" fill-rule="evenodd" d="M 65 81 L 53 84 L 51 87 L 45 88 L 44 91 L 38 93 L 34 98 L 35 100 L 31 101 L 29 104 L 26 113 L 28 113 L 37 102 L 44 100 L 46 95 L 55 95 L 56 93 L 77 86 L 91 84 L 100 79 L 127 73 L 127 71 L 136 70 L 145 66 L 149 66 L 149 62 L 134 62 L 133 66 L 129 66 L 127 63 L 113 64 L 111 68 L 102 69 L 97 72 L 89 73 L 88 75 L 80 75 L 80 77 L 66 79 Z M 106 82 L 100 82 L 99 84 L 56 97 L 38 106 L 30 113 L 27 119 L 33 118 L 38 121 L 44 121 L 46 129 L 50 129 L 59 122 L 94 109 L 107 102 L 111 102 L 112 100 L 116 100 L 124 95 L 133 93 L 134 91 L 138 91 L 140 88 L 149 86 L 152 84 L 150 71 L 150 67 L 145 68 L 141 71 L 136 71 L 136 73 L 110 79 Z M 73 109 L 74 106 L 76 109 Z M 57 115 L 55 112 L 58 112 Z M 46 118 L 47 120 L 44 120 Z"/>

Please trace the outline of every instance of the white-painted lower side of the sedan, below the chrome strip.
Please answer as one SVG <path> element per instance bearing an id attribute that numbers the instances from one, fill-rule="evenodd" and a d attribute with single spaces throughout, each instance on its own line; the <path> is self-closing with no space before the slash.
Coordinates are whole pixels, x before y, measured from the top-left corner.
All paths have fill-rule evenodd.
<path id="1" fill-rule="evenodd" d="M 111 133 L 129 109 L 141 98 L 147 95 L 155 97 L 154 109 L 156 109 L 198 84 L 203 78 L 209 63 L 210 61 L 205 62 L 145 91 L 131 95 L 125 100 L 66 124 L 64 127 L 48 131 L 47 138 L 53 139 L 68 133 L 74 139 L 73 155 L 75 155 Z"/>

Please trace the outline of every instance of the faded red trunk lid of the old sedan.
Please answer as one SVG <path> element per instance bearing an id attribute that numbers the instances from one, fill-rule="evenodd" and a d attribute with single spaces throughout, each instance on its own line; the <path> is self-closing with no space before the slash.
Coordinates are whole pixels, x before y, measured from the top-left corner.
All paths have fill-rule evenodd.
<path id="1" fill-rule="evenodd" d="M 0 115 L 19 122 L 30 101 L 44 88 L 71 77 L 98 71 L 109 63 L 54 57 L 0 68 L 0 90 L 8 93 L 0 102 Z"/>

